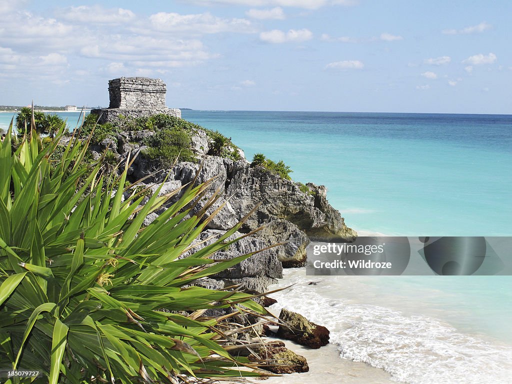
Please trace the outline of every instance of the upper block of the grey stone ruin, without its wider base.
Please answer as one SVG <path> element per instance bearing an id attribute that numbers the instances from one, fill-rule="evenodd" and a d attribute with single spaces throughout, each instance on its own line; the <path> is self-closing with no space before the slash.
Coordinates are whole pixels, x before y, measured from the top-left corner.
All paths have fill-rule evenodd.
<path id="1" fill-rule="evenodd" d="M 165 108 L 165 83 L 148 77 L 121 77 L 109 81 L 112 108 Z"/>

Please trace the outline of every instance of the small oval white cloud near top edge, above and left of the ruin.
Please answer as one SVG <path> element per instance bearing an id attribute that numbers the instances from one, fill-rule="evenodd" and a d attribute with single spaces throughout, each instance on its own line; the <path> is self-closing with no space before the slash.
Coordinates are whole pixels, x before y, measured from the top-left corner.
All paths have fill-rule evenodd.
<path id="1" fill-rule="evenodd" d="M 135 13 L 129 9 L 113 8 L 106 9 L 100 5 L 71 7 L 62 9 L 59 16 L 74 23 L 85 24 L 121 24 L 131 22 Z"/>

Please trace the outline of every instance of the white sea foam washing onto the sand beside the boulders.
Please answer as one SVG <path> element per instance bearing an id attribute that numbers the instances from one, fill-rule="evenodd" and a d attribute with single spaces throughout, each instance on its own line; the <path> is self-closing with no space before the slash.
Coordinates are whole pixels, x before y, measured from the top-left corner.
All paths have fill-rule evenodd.
<path id="1" fill-rule="evenodd" d="M 330 329 L 340 357 L 366 362 L 411 384 L 494 384 L 512 377 L 511 346 L 461 332 L 442 319 L 344 298 L 350 287 L 336 277 L 308 285 L 318 276 L 286 271 L 279 286 L 295 285 L 272 296 L 280 306 Z"/>

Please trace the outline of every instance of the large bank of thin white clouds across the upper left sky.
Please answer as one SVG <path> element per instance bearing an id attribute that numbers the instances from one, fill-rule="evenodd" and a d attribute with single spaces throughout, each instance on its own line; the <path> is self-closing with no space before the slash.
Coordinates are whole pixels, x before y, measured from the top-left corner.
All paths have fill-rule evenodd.
<path id="1" fill-rule="evenodd" d="M 125 75 L 137 75 L 196 66 L 220 55 L 209 52 L 199 38 L 191 36 L 222 31 L 250 32 L 253 28 L 249 20 L 220 18 L 209 13 L 161 13 L 150 18 L 131 11 L 107 9 L 110 21 L 119 22 L 112 28 L 105 26 L 109 20 L 101 19 L 103 16 L 95 12 L 88 15 L 94 18 L 93 23 L 80 22 L 85 10 L 104 10 L 98 6 L 56 12 L 63 14 L 66 10 L 67 15 L 58 19 L 18 10 L 3 20 L 0 72 L 10 77 L 47 76 L 48 81 L 53 81 L 51 76 L 71 76 L 82 69 L 84 65 L 78 67 L 77 61 L 72 60 L 79 56 L 80 62 L 87 62 L 88 67 L 101 67 L 103 72 L 112 74 L 123 74 L 123 69 Z M 121 23 L 128 19 L 130 23 Z"/>

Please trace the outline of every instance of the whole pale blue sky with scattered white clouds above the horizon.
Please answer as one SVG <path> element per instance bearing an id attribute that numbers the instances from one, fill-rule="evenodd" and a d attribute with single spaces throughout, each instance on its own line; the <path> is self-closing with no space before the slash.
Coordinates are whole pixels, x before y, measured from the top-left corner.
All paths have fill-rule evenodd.
<path id="1" fill-rule="evenodd" d="M 0 0 L 0 105 L 512 114 L 509 0 Z"/>

